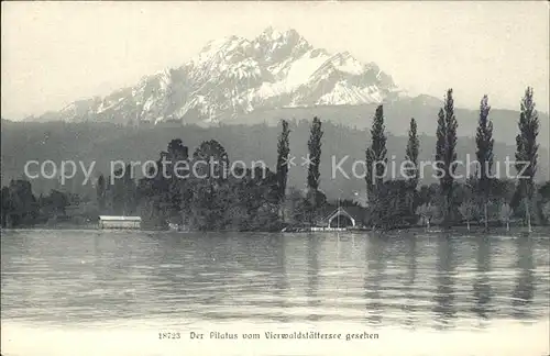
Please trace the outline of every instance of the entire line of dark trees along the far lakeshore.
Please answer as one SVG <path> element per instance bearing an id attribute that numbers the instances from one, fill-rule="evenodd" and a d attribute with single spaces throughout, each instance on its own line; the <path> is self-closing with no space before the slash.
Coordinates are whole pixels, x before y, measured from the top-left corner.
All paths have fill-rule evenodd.
<path id="1" fill-rule="evenodd" d="M 418 162 L 420 141 L 415 119 L 410 119 L 408 142 L 404 147 L 407 177 L 384 178 L 387 164 L 387 133 L 384 107 L 378 105 L 371 127 L 371 141 L 365 149 L 365 182 L 369 205 L 360 223 L 374 229 L 391 230 L 425 224 L 441 224 L 450 229 L 465 223 L 481 224 L 485 230 L 498 223 L 509 226 L 520 220 L 531 230 L 532 224 L 550 222 L 550 181 L 537 185 L 539 130 L 532 89 L 527 88 L 520 103 L 519 133 L 516 138 L 516 170 L 525 179 L 493 176 L 495 160 L 491 107 L 484 96 L 480 103 L 475 133 L 475 155 L 479 171 L 465 181 L 453 178 L 457 170 L 457 129 L 452 89 L 447 91 L 437 116 L 435 159 L 441 173 L 439 183 L 419 187 Z M 315 225 L 334 205 L 320 190 L 320 162 L 323 130 L 321 120 L 314 118 L 309 127 L 306 189 L 287 187 L 292 168 L 290 134 L 286 120 L 277 142 L 274 170 L 268 167 L 238 168 L 227 175 L 230 166 L 226 148 L 217 141 L 202 142 L 189 155 L 182 140 L 172 140 L 161 152 L 150 174 L 134 179 L 128 166 L 113 177 L 99 176 L 96 182 L 97 214 L 141 215 L 144 225 L 166 229 L 168 224 L 193 230 L 277 231 L 288 224 Z M 215 162 L 216 169 L 202 167 L 200 177 L 177 176 L 177 162 Z M 164 173 L 168 173 L 165 175 Z M 226 173 L 226 174 L 224 174 Z M 34 198 L 31 185 L 13 180 L 2 188 L 2 226 L 29 225 L 63 215 L 65 207 L 76 198 L 53 190 L 47 197 Z M 339 204 L 353 205 L 351 201 Z"/>

